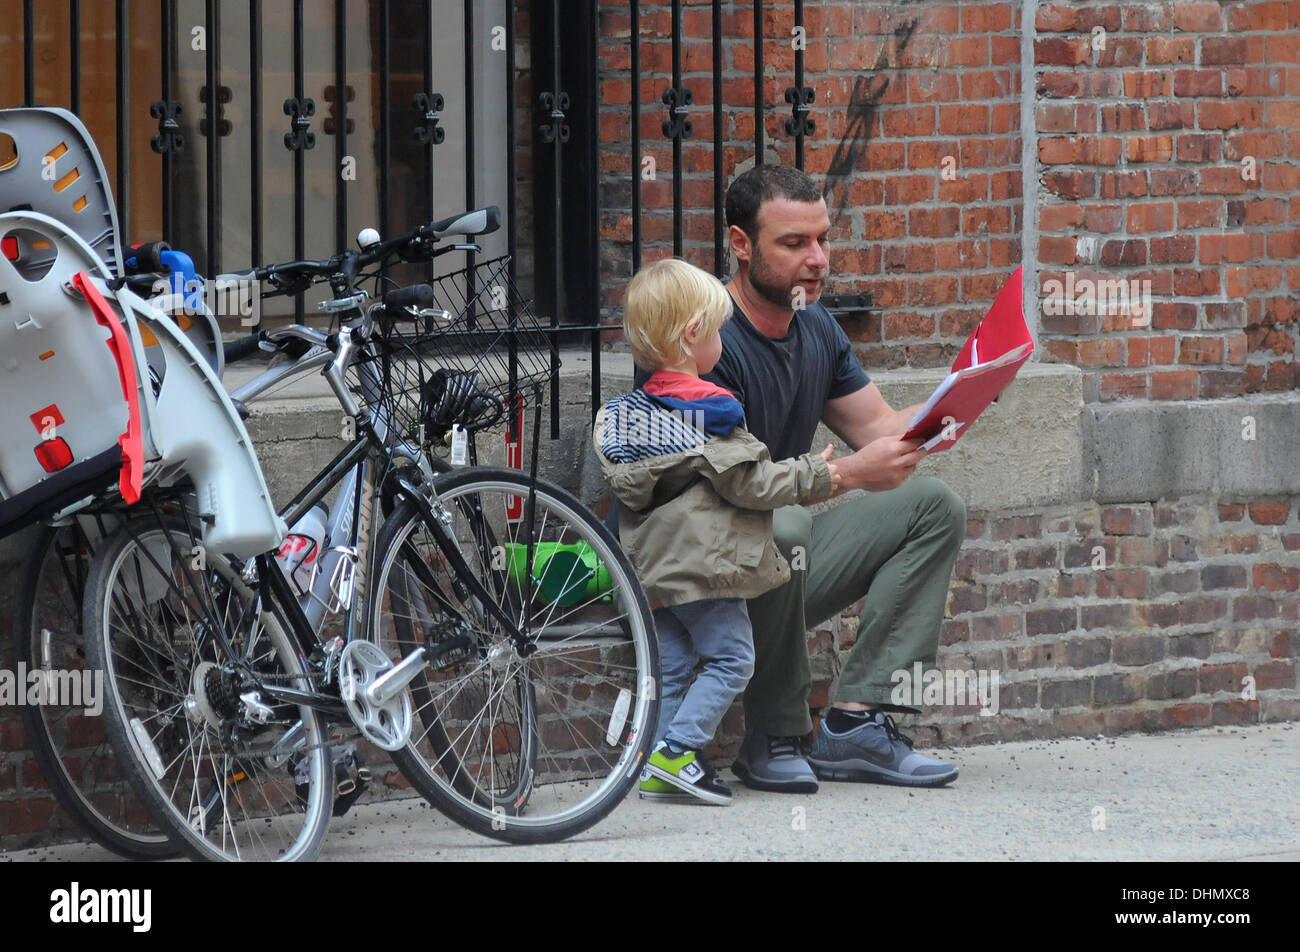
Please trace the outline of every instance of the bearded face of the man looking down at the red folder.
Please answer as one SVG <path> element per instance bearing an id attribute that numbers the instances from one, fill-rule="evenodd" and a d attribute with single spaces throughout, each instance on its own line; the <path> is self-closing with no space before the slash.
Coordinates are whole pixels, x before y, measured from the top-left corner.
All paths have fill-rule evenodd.
<path id="1" fill-rule="evenodd" d="M 829 230 L 824 199 L 768 199 L 758 209 L 758 238 L 750 242 L 749 284 L 777 307 L 816 303 L 829 274 Z"/>

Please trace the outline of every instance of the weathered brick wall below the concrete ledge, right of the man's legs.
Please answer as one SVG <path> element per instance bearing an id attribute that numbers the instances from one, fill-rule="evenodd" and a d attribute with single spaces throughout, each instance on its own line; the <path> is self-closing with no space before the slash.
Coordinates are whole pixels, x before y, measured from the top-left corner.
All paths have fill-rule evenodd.
<path id="1" fill-rule="evenodd" d="M 932 743 L 1300 718 L 1300 498 L 976 514 L 953 575 L 940 666 L 1000 671 L 998 715 L 928 711 Z"/>

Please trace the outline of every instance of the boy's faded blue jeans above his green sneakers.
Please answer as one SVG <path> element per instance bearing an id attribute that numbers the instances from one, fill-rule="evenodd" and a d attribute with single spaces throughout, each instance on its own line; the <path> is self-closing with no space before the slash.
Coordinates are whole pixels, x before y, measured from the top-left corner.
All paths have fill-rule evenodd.
<path id="1" fill-rule="evenodd" d="M 663 688 L 655 743 L 699 750 L 754 674 L 754 636 L 744 598 L 655 609 Z M 692 676 L 697 661 L 705 666 Z"/>

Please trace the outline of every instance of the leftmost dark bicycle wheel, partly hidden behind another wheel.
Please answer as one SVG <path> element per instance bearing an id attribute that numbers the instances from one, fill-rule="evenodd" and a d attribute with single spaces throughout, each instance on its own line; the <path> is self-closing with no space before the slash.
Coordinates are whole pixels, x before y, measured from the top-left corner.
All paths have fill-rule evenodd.
<path id="1" fill-rule="evenodd" d="M 86 702 L 103 701 L 103 683 L 86 692 L 82 597 L 94 546 L 77 523 L 44 525 L 22 561 L 13 615 L 14 662 L 47 684 L 81 683 L 81 704 L 69 692 L 48 692 L 43 704 L 22 707 L 32 754 L 58 804 L 101 847 L 130 860 L 176 856 L 148 810 L 122 776 L 103 719 Z M 87 713 L 90 711 L 90 713 Z"/>

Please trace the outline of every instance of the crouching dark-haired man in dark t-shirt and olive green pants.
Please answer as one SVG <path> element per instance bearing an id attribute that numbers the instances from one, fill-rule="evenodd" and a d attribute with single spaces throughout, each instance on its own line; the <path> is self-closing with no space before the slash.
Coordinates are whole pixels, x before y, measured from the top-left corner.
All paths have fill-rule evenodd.
<path id="1" fill-rule="evenodd" d="M 788 792 L 815 792 L 819 778 L 949 783 L 957 767 L 914 752 L 887 713 L 916 713 L 889 704 L 890 675 L 933 666 L 966 507 L 939 480 L 909 479 L 924 451 L 901 437 L 919 404 L 890 408 L 818 303 L 829 273 L 822 190 L 797 169 L 758 165 L 728 189 L 727 225 L 734 312 L 706 378 L 736 394 L 775 460 L 809 453 L 824 421 L 854 450 L 836 460 L 841 492 L 868 490 L 816 516 L 798 506 L 775 514 L 777 546 L 796 571 L 748 606 L 755 667 L 732 771 L 749 787 Z M 863 597 L 858 640 L 805 760 L 805 632 Z"/>

